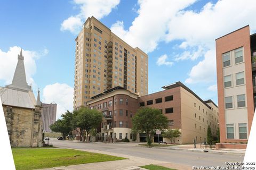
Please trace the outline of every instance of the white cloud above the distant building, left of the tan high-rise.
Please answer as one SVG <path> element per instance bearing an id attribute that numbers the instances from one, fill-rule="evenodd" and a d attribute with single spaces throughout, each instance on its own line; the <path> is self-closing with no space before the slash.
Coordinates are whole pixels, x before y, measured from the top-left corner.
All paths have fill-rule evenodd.
<path id="1" fill-rule="evenodd" d="M 54 83 L 45 86 L 43 89 L 43 103 L 57 104 L 57 116 L 60 118 L 62 113 L 68 111 L 73 111 L 73 87 L 68 86 L 68 84 Z"/>

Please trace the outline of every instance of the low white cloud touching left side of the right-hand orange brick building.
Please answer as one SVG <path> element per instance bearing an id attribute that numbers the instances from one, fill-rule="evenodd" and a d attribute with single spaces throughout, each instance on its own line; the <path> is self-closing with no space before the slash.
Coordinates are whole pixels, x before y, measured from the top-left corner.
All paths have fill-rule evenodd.
<path id="1" fill-rule="evenodd" d="M 193 66 L 186 83 L 213 82 L 216 80 L 215 50 L 209 50 L 204 55 L 204 60 Z"/>

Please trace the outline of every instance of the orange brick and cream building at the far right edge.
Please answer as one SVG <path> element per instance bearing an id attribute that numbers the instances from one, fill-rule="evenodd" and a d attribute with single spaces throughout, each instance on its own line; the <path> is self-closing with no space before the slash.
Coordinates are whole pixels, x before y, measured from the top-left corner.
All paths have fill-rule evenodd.
<path id="1" fill-rule="evenodd" d="M 216 39 L 220 144 L 247 143 L 255 108 L 256 35 L 249 25 Z M 236 148 L 246 145 L 237 145 Z"/>

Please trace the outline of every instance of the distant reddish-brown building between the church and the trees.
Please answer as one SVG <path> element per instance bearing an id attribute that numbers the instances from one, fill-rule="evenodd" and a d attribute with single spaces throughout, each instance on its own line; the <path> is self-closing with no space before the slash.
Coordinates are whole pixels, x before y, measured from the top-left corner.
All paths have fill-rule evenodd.
<path id="1" fill-rule="evenodd" d="M 43 132 L 51 132 L 50 125 L 56 121 L 57 104 L 42 103 Z"/>

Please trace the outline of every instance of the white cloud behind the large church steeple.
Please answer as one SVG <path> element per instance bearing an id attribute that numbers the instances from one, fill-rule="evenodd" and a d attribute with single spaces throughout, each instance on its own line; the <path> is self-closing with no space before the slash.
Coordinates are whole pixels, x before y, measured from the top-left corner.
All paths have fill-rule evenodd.
<path id="1" fill-rule="evenodd" d="M 11 84 L 14 75 L 15 67 L 18 62 L 18 54 L 20 54 L 20 47 L 10 47 L 7 52 L 0 49 L 0 80 L 3 80 L 5 84 Z M 48 53 L 47 49 L 42 52 L 35 52 L 22 49 L 22 55 L 24 56 L 24 64 L 26 71 L 27 83 L 32 83 L 35 86 L 33 75 L 36 73 L 36 62 L 39 57 Z"/>

